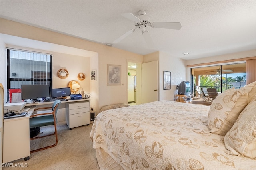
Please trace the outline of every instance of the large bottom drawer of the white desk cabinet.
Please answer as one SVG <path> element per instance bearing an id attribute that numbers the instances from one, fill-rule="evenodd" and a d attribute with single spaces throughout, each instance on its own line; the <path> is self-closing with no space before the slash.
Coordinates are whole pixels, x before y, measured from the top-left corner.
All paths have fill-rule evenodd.
<path id="1" fill-rule="evenodd" d="M 69 128 L 90 124 L 90 112 L 70 115 Z"/>

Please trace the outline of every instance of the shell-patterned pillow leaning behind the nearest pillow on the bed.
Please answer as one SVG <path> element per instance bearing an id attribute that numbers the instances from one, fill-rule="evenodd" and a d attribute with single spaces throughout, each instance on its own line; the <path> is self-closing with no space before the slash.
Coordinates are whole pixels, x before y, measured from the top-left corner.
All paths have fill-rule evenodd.
<path id="1" fill-rule="evenodd" d="M 208 113 L 210 132 L 225 135 L 231 129 L 248 104 L 248 93 L 251 93 L 250 96 L 253 96 L 253 91 L 256 93 L 254 87 L 256 87 L 256 81 L 240 89 L 228 89 L 216 97 Z M 252 99 L 253 97 L 250 97 L 250 100 Z"/>

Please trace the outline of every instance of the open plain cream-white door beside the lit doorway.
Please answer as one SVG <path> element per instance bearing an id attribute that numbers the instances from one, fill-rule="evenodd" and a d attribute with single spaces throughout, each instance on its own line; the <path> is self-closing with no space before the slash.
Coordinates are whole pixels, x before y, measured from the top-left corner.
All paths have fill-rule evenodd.
<path id="1" fill-rule="evenodd" d="M 158 101 L 158 61 L 142 64 L 142 103 Z"/>

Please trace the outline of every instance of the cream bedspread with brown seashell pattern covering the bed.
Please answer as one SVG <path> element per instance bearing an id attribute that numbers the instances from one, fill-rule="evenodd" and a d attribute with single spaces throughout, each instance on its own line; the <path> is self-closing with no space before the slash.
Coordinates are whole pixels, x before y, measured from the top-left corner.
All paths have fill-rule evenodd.
<path id="1" fill-rule="evenodd" d="M 224 136 L 209 133 L 209 106 L 174 101 L 103 111 L 90 138 L 124 169 L 256 169 L 256 160 L 226 154 Z"/>

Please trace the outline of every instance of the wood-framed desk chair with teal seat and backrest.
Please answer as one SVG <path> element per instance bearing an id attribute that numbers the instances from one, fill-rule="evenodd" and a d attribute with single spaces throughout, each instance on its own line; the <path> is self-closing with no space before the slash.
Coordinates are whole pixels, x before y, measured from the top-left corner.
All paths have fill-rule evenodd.
<path id="1" fill-rule="evenodd" d="M 34 153 L 34 152 L 37 152 L 37 151 L 40 151 L 40 150 L 52 148 L 52 147 L 57 145 L 58 137 L 57 137 L 57 127 L 56 127 L 56 124 L 57 124 L 56 115 L 57 115 L 57 110 L 58 110 L 58 107 L 60 106 L 60 103 L 61 103 L 60 100 L 56 100 L 56 101 L 54 101 L 52 107 L 42 107 L 42 108 L 37 108 L 37 109 L 34 110 L 34 111 L 36 111 L 36 114 L 31 115 L 31 117 L 29 119 L 30 128 L 54 125 L 55 131 L 52 134 L 30 138 L 30 140 L 43 138 L 43 137 L 47 137 L 47 136 L 51 136 L 51 135 L 55 134 L 56 143 L 53 144 L 53 145 L 50 145 L 50 146 L 46 146 L 46 147 L 43 147 L 43 148 L 32 150 L 32 151 L 30 151 L 30 153 Z M 52 109 L 50 112 L 37 113 L 38 110 L 50 109 L 50 108 Z M 52 115 L 50 115 L 50 114 L 52 114 Z"/>

